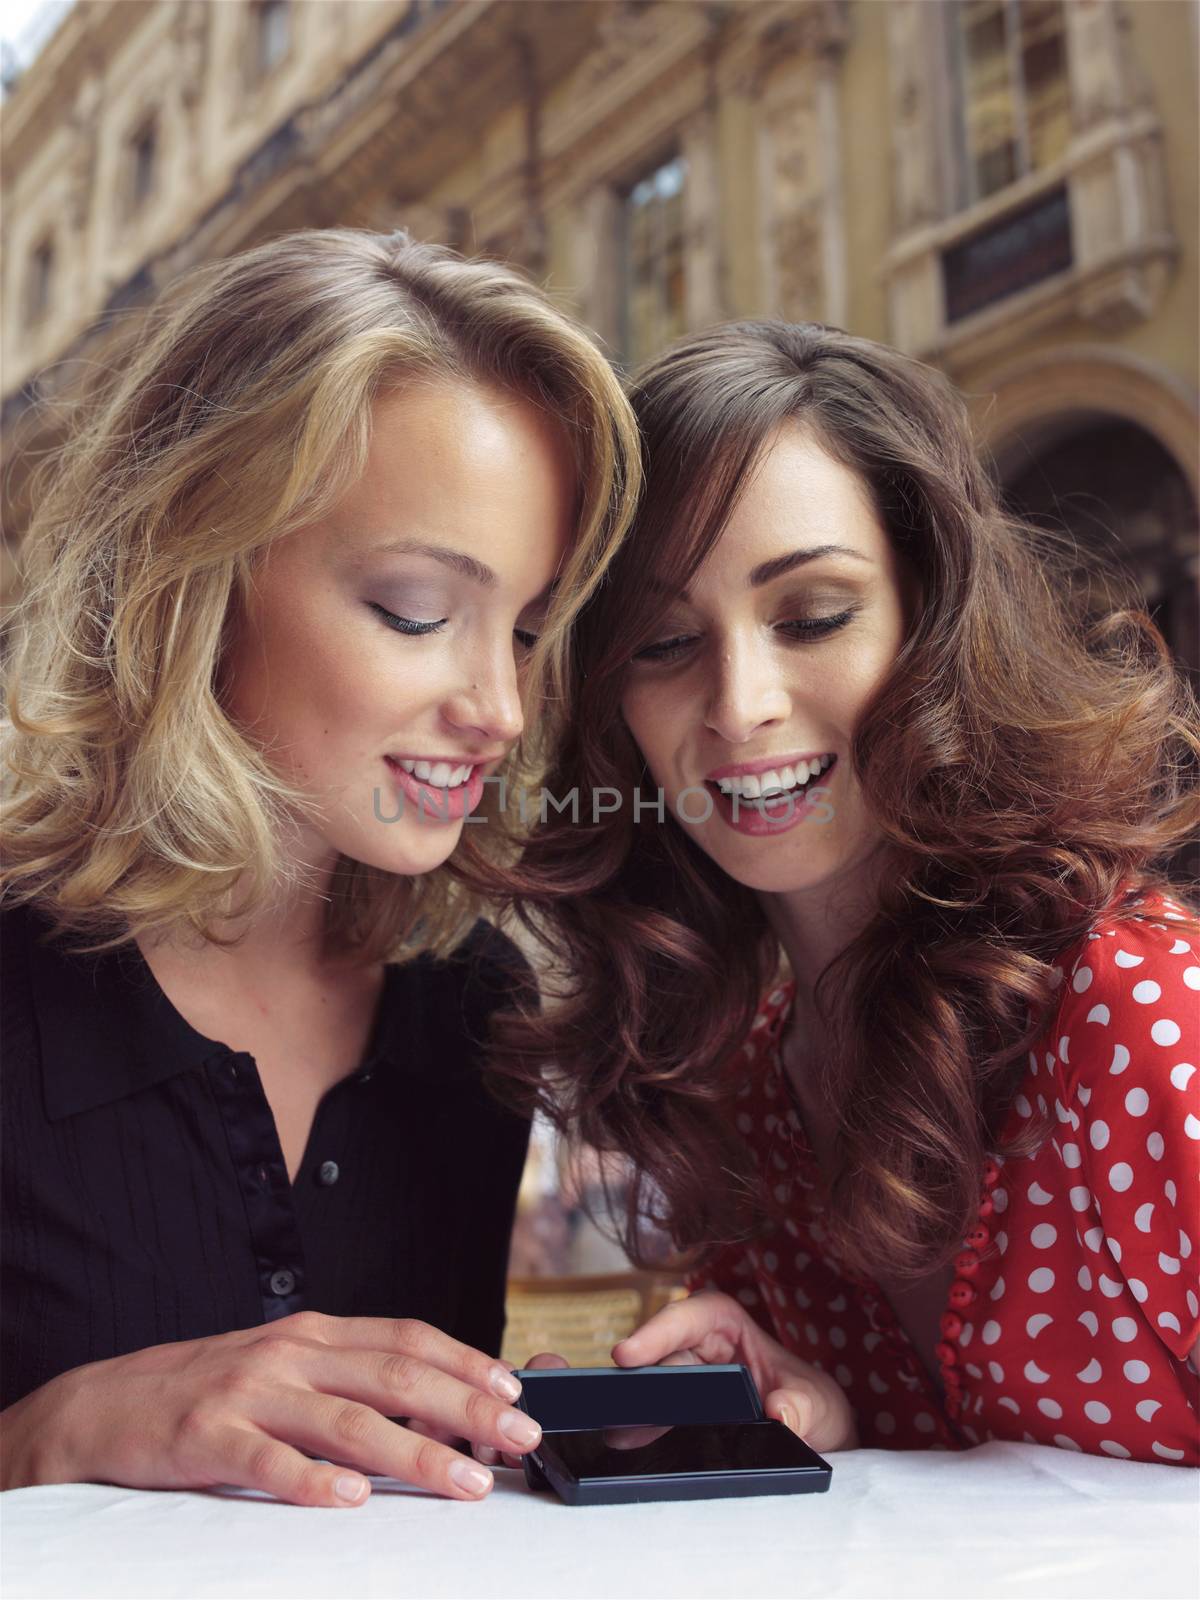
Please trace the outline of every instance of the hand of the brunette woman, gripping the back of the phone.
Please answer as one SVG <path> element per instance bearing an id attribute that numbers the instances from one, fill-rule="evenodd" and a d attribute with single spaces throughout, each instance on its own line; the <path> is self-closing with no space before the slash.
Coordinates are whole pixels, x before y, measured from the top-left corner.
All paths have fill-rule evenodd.
<path id="1" fill-rule="evenodd" d="M 613 1346 L 618 1366 L 739 1362 L 750 1370 L 766 1416 L 821 1454 L 858 1446 L 858 1427 L 842 1386 L 790 1355 L 728 1294 L 701 1290 L 672 1301 Z"/>

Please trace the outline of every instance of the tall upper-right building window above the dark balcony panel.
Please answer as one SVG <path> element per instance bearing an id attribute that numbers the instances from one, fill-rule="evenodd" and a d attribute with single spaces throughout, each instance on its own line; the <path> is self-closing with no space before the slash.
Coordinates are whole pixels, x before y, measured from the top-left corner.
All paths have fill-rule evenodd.
<path id="1" fill-rule="evenodd" d="M 1070 139 L 1062 0 L 957 0 L 960 206 L 1050 166 Z"/>

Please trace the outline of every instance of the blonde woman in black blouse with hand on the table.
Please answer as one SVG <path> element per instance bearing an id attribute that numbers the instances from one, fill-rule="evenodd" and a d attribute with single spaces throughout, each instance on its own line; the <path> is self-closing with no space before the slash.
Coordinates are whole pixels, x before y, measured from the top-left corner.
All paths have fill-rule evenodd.
<path id="1" fill-rule="evenodd" d="M 403 234 L 195 270 L 85 410 L 6 670 L 5 1488 L 478 1499 L 469 1443 L 536 1443 L 478 1070 L 522 963 L 451 862 L 637 470 L 589 338 Z"/>

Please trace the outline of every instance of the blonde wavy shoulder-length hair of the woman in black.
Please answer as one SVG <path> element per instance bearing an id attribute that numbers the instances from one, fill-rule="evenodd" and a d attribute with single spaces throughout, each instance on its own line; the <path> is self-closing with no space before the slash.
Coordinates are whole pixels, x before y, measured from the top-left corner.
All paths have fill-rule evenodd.
<path id="1" fill-rule="evenodd" d="M 510 782 L 533 781 L 568 715 L 571 624 L 630 522 L 637 427 L 541 290 L 403 232 L 304 229 L 205 264 L 131 333 L 35 474 L 0 723 L 0 904 L 37 901 L 90 950 L 187 925 L 235 944 L 216 920 L 304 883 L 282 840 L 314 802 L 222 710 L 222 650 L 267 549 L 362 475 L 374 397 L 490 382 L 570 442 L 576 530 Z M 520 848 L 490 802 L 456 854 Z M 326 954 L 363 962 L 446 952 L 480 910 L 453 864 L 408 878 L 346 856 L 326 899 Z"/>

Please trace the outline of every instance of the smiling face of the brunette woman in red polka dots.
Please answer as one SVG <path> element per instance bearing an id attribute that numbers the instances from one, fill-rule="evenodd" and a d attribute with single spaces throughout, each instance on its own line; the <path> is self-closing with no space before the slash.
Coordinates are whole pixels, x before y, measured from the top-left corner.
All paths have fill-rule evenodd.
<path id="1" fill-rule="evenodd" d="M 747 888 L 830 883 L 878 843 L 850 747 L 914 592 L 862 478 L 784 424 L 621 702 L 667 814 Z"/>

